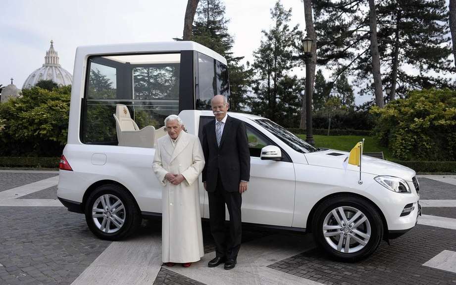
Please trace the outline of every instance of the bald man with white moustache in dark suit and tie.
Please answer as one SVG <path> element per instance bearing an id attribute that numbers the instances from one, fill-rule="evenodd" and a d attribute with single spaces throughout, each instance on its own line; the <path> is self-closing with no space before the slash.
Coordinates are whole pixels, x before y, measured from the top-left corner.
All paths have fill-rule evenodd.
<path id="1" fill-rule="evenodd" d="M 211 106 L 215 120 L 203 127 L 203 183 L 209 196 L 216 257 L 207 266 L 225 263 L 225 269 L 233 269 L 241 247 L 241 194 L 247 191 L 250 179 L 249 142 L 244 122 L 227 115 L 225 96 L 214 96 Z M 225 238 L 225 204 L 230 214 L 229 239 Z"/>

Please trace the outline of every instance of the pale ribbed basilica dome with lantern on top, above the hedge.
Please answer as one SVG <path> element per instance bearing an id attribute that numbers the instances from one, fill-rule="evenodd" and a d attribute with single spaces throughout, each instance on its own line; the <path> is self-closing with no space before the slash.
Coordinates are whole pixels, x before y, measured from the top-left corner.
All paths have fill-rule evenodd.
<path id="1" fill-rule="evenodd" d="M 27 77 L 22 89 L 28 89 L 35 86 L 41 80 L 52 80 L 58 86 L 71 85 L 73 76 L 58 64 L 58 55 L 55 51 L 53 42 L 51 47 L 46 51 L 45 63 Z"/>

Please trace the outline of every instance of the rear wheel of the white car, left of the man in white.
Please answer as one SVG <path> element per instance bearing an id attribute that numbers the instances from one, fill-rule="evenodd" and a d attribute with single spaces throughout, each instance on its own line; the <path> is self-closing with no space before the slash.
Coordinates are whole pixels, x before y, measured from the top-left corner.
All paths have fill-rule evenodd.
<path id="1" fill-rule="evenodd" d="M 102 185 L 90 193 L 84 213 L 92 233 L 107 240 L 126 238 L 142 221 L 131 195 L 115 184 Z"/>

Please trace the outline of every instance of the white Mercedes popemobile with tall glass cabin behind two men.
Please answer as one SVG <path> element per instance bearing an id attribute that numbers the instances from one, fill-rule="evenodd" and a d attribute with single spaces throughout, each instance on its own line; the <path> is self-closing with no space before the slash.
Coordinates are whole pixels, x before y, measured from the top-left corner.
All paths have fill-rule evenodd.
<path id="1" fill-rule="evenodd" d="M 163 119 L 179 114 L 187 132 L 201 137 L 213 119 L 210 98 L 229 97 L 226 60 L 194 42 L 78 47 L 73 74 L 57 195 L 85 214 L 96 236 L 121 239 L 142 218 L 161 215 L 152 160 L 157 138 L 166 135 Z M 382 239 L 415 226 L 421 207 L 412 169 L 362 156 L 360 173 L 344 167 L 347 152 L 315 148 L 266 118 L 228 114 L 245 122 L 249 138 L 244 223 L 312 232 L 343 260 L 364 258 Z"/>

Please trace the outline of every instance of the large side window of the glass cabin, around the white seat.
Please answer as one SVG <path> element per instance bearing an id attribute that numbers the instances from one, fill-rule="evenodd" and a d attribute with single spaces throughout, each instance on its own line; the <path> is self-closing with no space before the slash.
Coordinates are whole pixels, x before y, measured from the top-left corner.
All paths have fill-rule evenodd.
<path id="1" fill-rule="evenodd" d="M 179 112 L 180 62 L 180 53 L 89 57 L 81 141 L 117 145 L 116 104 L 126 105 L 140 129 L 163 126 Z"/>

